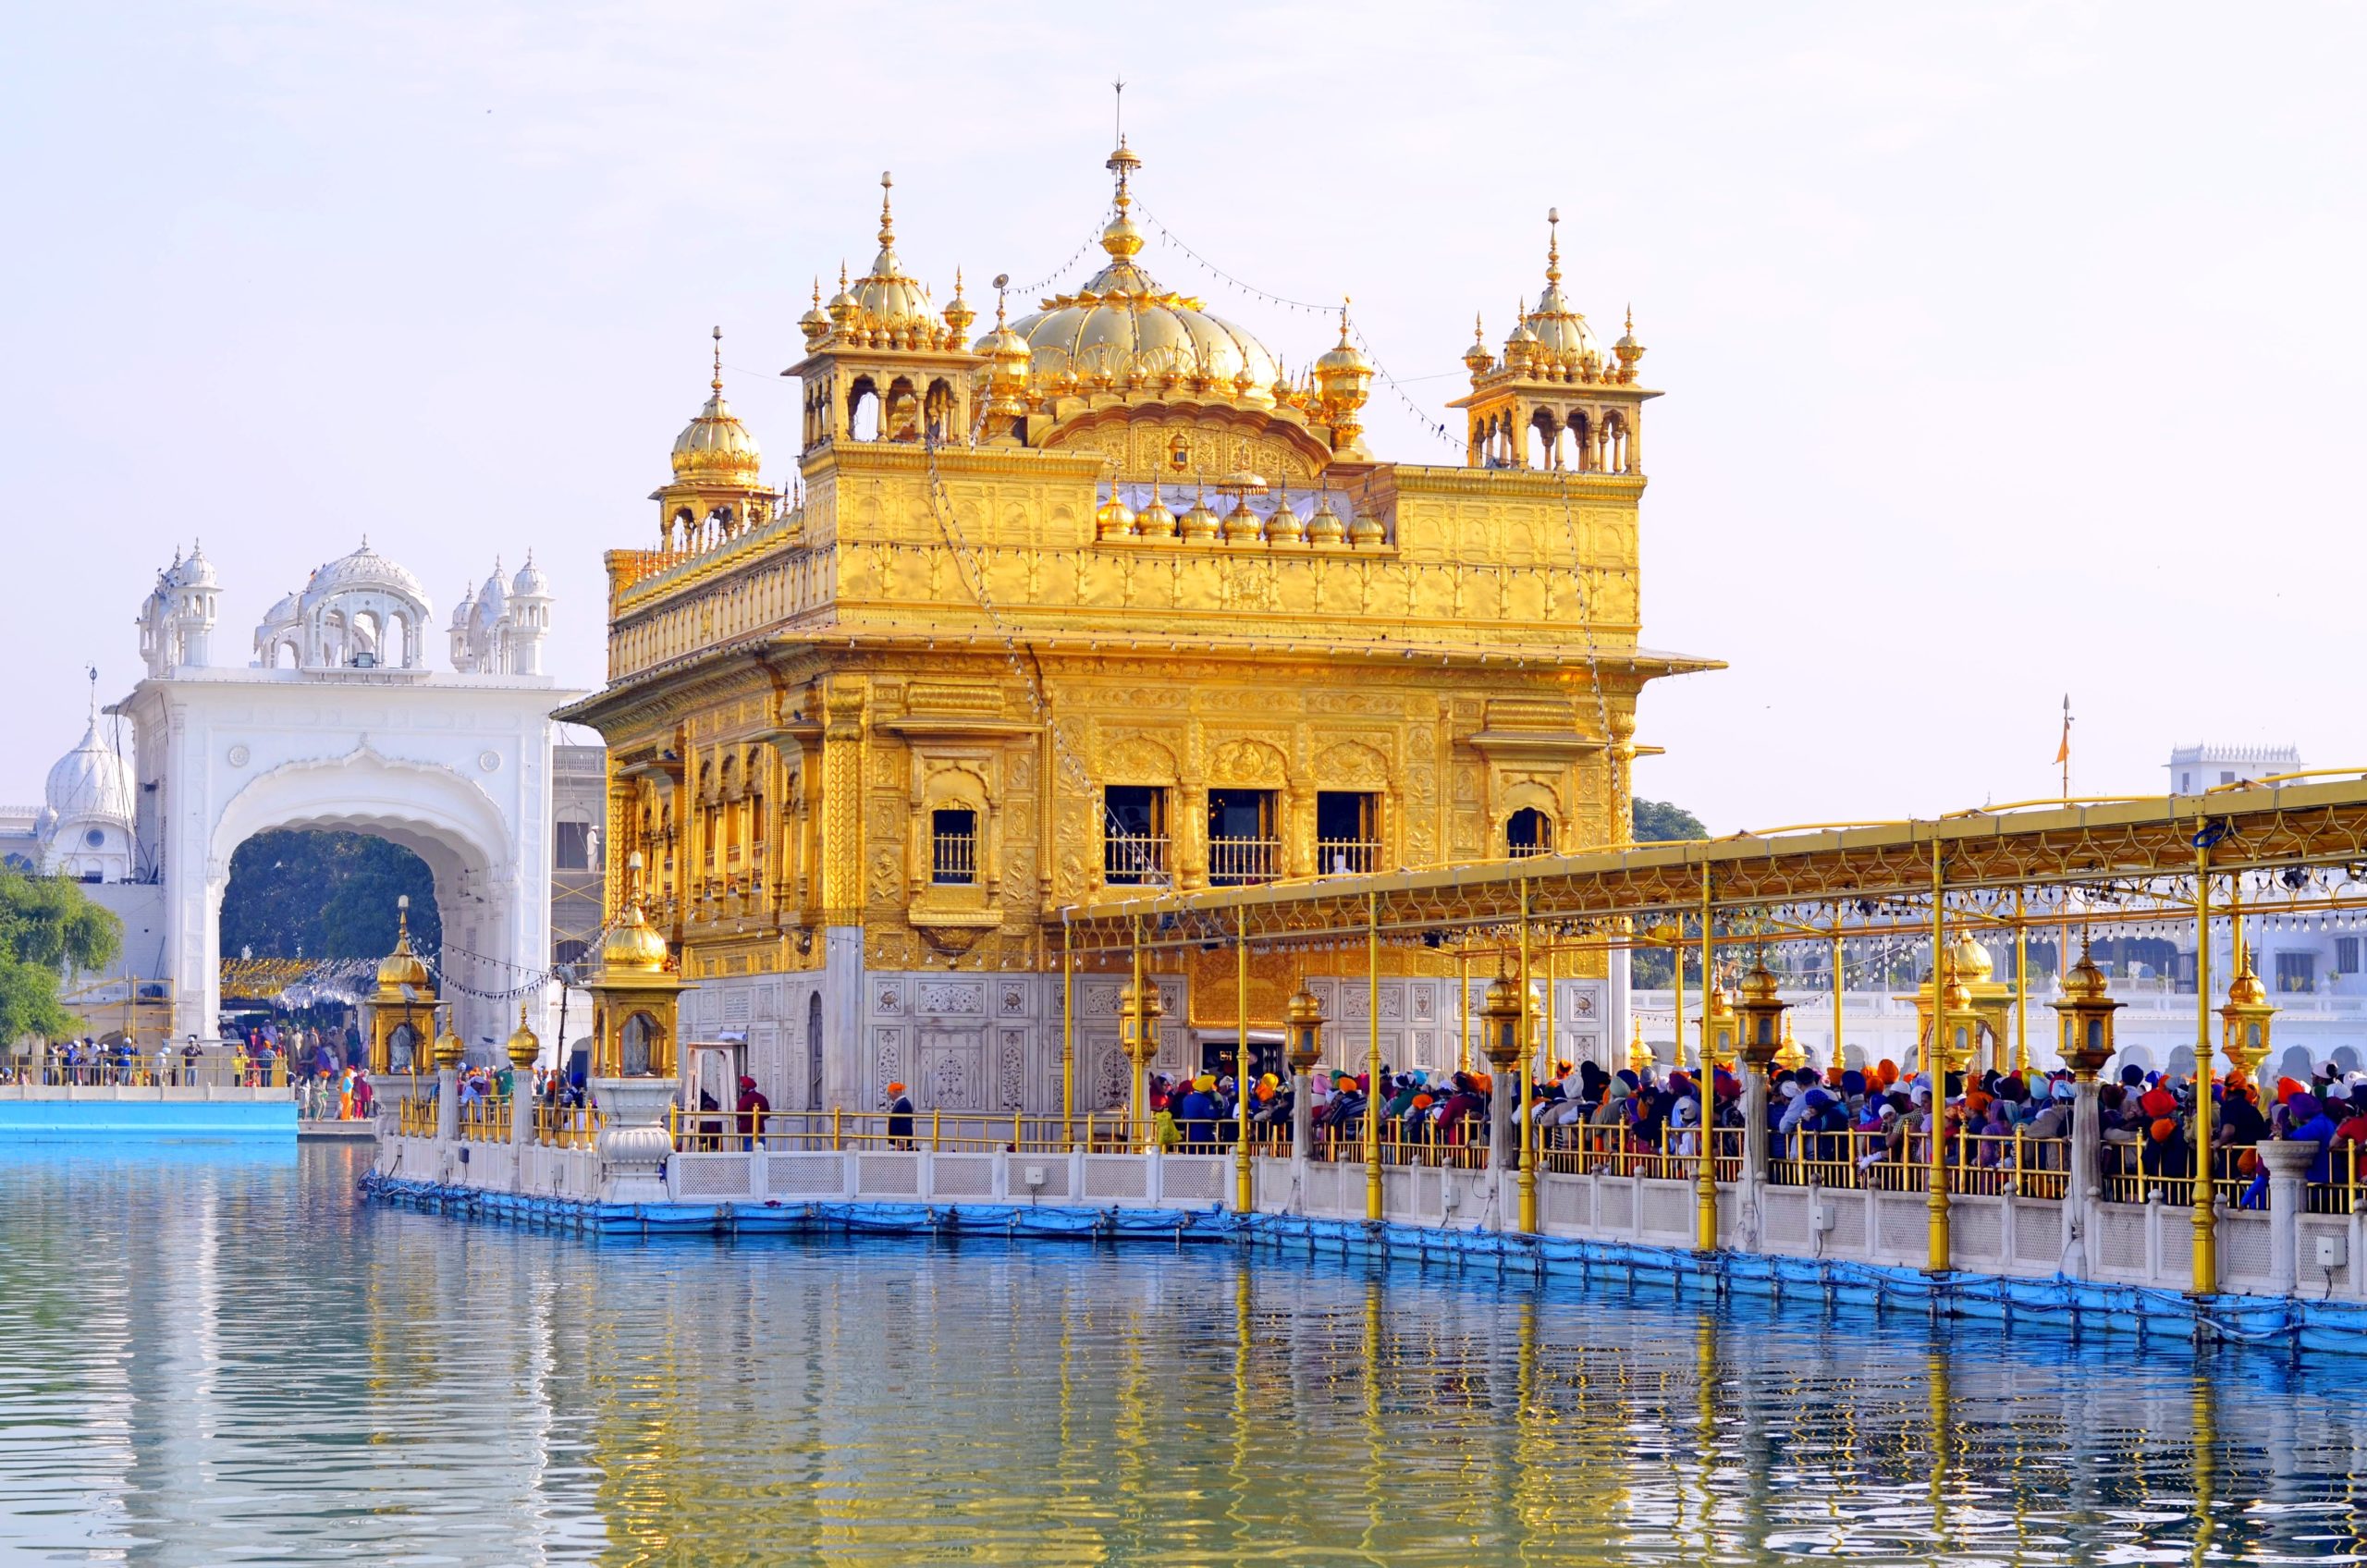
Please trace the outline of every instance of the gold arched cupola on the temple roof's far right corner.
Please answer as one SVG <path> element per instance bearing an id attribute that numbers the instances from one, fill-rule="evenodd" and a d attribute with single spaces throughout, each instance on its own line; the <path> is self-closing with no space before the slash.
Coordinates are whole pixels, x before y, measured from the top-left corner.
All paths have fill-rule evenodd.
<path id="1" fill-rule="evenodd" d="M 1636 317 L 1610 351 L 1562 289 L 1562 213 L 1546 211 L 1546 291 L 1513 313 L 1503 355 L 1477 329 L 1463 351 L 1472 391 L 1449 407 L 1468 422 L 1475 469 L 1640 476 L 1640 410 L 1659 393 L 1636 384 Z"/>

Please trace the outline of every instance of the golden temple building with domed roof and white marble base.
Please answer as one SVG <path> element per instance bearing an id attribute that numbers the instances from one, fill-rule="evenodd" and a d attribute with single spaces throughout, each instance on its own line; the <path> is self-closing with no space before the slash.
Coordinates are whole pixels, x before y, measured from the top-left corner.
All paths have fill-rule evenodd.
<path id="1" fill-rule="evenodd" d="M 1636 696 L 1711 661 L 1638 644 L 1643 348 L 1546 291 L 1468 355 L 1456 464 L 1378 460 L 1347 322 L 1304 372 L 1143 268 L 1120 147 L 1101 270 L 973 336 L 888 204 L 805 313 L 795 493 L 722 396 L 672 450 L 656 547 L 608 552 L 608 886 L 774 1106 L 1060 1101 L 1056 910 L 1626 834 Z M 611 893 L 615 907 L 618 893 Z M 1311 985 L 1333 1016 L 1356 985 Z M 1392 952 L 1392 1061 L 1458 1054 L 1456 962 Z M 1321 966 L 1318 966 L 1321 969 Z M 1252 955 L 1273 1033 L 1297 959 Z M 1486 976 L 1470 981 L 1477 1000 Z M 1231 957 L 1160 976 L 1160 1066 L 1231 1042 Z M 1617 1011 L 1560 981 L 1572 1049 Z M 1077 983 L 1079 1104 L 1112 1104 L 1117 978 Z"/>

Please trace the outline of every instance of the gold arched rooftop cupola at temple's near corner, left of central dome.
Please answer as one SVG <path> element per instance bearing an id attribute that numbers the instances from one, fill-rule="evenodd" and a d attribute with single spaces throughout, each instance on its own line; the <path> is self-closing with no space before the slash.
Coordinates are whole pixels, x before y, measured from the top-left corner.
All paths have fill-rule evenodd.
<path id="1" fill-rule="evenodd" d="M 940 313 L 928 287 L 904 270 L 895 249 L 895 175 L 881 175 L 878 253 L 871 270 L 814 303 L 798 327 L 805 358 L 783 369 L 805 384 L 805 452 L 838 441 L 911 441 L 963 445 L 980 355 L 968 329 L 978 320 L 954 275 L 954 301 Z M 814 294 L 821 289 L 817 284 Z"/>

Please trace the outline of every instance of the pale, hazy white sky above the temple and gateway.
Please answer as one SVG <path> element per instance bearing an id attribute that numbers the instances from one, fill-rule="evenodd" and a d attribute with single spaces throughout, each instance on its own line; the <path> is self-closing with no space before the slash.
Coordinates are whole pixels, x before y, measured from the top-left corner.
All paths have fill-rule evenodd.
<path id="1" fill-rule="evenodd" d="M 2367 7 L 2163 0 L 7 7 L 0 801 L 83 666 L 137 680 L 192 538 L 215 663 L 367 533 L 438 621 L 533 550 L 547 666 L 596 685 L 710 327 L 783 474 L 881 171 L 940 301 L 1037 282 L 1098 227 L 1115 78 L 1160 230 L 1354 296 L 1420 405 L 1375 391 L 1387 460 L 1460 460 L 1423 419 L 1548 208 L 1598 332 L 1633 306 L 1645 642 L 1730 666 L 1647 689 L 1638 793 L 1714 831 L 2050 796 L 2066 694 L 2073 793 L 2197 739 L 2367 763 L 2362 45 Z"/>

